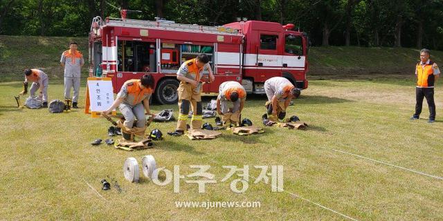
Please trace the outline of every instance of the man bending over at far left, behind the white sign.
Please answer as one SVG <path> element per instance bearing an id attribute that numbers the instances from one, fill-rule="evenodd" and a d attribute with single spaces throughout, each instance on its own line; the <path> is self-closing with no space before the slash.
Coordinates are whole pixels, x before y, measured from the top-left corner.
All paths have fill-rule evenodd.
<path id="1" fill-rule="evenodd" d="M 33 84 L 30 86 L 30 95 L 35 96 L 35 91 L 40 89 L 39 97 L 42 98 L 43 107 L 48 107 L 48 75 L 46 75 L 42 70 L 38 69 L 26 69 L 25 70 L 25 81 L 24 90 L 21 91 L 20 95 L 26 95 L 28 93 L 28 82 L 31 81 Z"/>

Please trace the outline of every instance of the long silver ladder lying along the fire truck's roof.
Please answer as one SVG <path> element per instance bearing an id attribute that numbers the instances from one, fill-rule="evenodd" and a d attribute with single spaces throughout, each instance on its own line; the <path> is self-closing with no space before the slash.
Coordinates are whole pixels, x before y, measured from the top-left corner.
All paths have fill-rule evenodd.
<path id="1" fill-rule="evenodd" d="M 235 28 L 226 28 L 223 26 L 199 26 L 184 23 L 175 23 L 174 21 L 165 21 L 159 19 L 158 21 L 136 20 L 136 19 L 106 19 L 105 26 L 118 26 L 128 28 L 155 28 L 161 30 L 177 30 L 188 32 L 202 32 L 218 35 L 238 35 L 239 30 Z"/>

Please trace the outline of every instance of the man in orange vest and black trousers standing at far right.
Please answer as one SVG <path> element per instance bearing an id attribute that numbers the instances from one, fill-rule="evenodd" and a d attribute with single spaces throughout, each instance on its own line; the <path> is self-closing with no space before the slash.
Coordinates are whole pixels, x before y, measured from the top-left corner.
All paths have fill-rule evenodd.
<path id="1" fill-rule="evenodd" d="M 434 61 L 429 59 L 431 52 L 423 48 L 420 50 L 420 62 L 415 66 L 415 76 L 417 77 L 417 88 L 415 88 L 415 113 L 410 119 L 419 119 L 422 113 L 423 98 L 429 106 L 428 123 L 435 122 L 435 102 L 434 102 L 434 84 L 437 81 L 440 70 Z"/>

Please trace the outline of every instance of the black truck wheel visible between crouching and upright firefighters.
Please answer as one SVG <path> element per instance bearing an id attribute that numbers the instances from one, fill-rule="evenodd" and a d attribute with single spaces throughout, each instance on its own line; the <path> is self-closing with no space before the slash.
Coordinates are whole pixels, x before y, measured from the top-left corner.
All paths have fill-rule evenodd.
<path id="1" fill-rule="evenodd" d="M 177 79 L 163 79 L 157 84 L 156 99 L 161 104 L 177 104 L 179 101 L 179 81 Z"/>

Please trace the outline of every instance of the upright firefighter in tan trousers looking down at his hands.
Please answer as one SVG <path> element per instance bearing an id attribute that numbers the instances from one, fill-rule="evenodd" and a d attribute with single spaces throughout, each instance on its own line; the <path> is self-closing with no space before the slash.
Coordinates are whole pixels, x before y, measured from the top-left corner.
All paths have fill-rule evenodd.
<path id="1" fill-rule="evenodd" d="M 177 79 L 180 86 L 177 88 L 179 94 L 179 119 L 177 128 L 168 135 L 179 136 L 186 131 L 186 119 L 188 119 L 189 106 L 192 107 L 191 129 L 201 129 L 203 108 L 201 106 L 201 90 L 202 81 L 214 81 L 214 75 L 208 64 L 209 58 L 205 54 L 200 54 L 195 59 L 185 61 L 179 71 L 177 71 Z M 201 73 L 208 70 L 209 76 Z"/>

